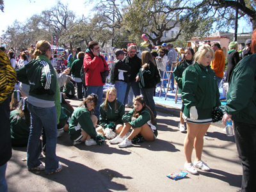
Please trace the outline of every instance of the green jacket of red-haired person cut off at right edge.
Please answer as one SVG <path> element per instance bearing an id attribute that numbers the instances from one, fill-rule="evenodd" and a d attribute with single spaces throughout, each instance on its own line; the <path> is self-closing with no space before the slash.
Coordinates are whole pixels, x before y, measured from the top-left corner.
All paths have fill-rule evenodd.
<path id="1" fill-rule="evenodd" d="M 256 125 L 256 54 L 237 63 L 230 78 L 225 111 L 232 120 Z"/>

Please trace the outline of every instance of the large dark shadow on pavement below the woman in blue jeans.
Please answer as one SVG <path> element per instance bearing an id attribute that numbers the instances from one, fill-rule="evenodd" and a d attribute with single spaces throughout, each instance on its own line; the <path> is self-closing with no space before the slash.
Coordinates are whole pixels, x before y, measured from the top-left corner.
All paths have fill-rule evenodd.
<path id="1" fill-rule="evenodd" d="M 40 180 L 40 177 L 44 177 L 45 179 L 51 180 L 53 182 L 58 182 L 59 184 L 65 186 L 67 191 L 126 191 L 127 188 L 124 184 L 120 184 L 118 182 L 124 183 L 124 180 L 121 179 L 132 179 L 132 177 L 124 176 L 114 170 L 104 169 L 104 170 L 93 170 L 92 168 L 88 168 L 81 163 L 76 163 L 74 161 L 69 161 L 68 159 L 63 159 L 58 157 L 61 164 L 63 164 L 63 169 L 59 173 L 53 173 L 52 175 L 46 175 L 44 171 L 36 171 L 33 170 L 30 173 L 33 173 L 33 177 L 37 177 Z M 24 179 L 22 176 L 22 172 L 28 172 L 26 168 L 26 163 L 22 163 L 22 161 L 16 161 L 13 159 L 13 163 L 16 164 L 16 167 L 19 167 L 16 172 L 8 175 L 8 177 L 19 177 Z M 30 175 L 28 173 L 27 175 Z M 31 176 L 28 176 L 31 178 Z M 115 182 L 113 179 L 118 178 L 118 182 Z M 8 178 L 6 178 L 8 179 Z M 27 181 L 28 185 L 33 184 L 33 181 Z M 48 184 L 49 183 L 49 186 Z M 51 185 L 51 186 L 50 186 Z M 47 191 L 48 189 L 52 189 L 52 182 L 45 182 L 44 184 L 33 185 L 31 186 L 31 190 L 34 191 Z M 8 186 L 9 191 L 17 191 L 19 188 L 19 183 L 15 183 Z M 61 188 L 61 187 L 60 187 Z M 56 188 L 54 191 L 62 191 L 60 188 Z"/>

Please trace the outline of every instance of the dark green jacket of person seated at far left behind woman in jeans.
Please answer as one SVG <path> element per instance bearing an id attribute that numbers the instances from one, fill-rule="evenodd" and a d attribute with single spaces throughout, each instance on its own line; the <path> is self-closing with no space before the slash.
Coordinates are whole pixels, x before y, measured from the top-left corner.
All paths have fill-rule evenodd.
<path id="1" fill-rule="evenodd" d="M 26 123 L 26 118 L 20 118 L 19 110 L 13 110 L 10 113 L 12 146 L 25 147 L 28 145 L 30 129 Z"/>

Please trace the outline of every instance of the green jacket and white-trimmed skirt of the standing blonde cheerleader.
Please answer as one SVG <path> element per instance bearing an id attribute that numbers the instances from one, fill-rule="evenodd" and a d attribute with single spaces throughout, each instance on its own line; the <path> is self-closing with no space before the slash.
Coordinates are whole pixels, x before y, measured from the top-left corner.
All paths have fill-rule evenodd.
<path id="1" fill-rule="evenodd" d="M 207 124 L 212 122 L 212 108 L 220 106 L 220 92 L 216 83 L 214 70 L 210 66 L 204 67 L 195 62 L 182 74 L 182 99 L 184 111 L 182 117 L 193 124 Z M 190 118 L 189 110 L 195 106 L 198 119 Z"/>

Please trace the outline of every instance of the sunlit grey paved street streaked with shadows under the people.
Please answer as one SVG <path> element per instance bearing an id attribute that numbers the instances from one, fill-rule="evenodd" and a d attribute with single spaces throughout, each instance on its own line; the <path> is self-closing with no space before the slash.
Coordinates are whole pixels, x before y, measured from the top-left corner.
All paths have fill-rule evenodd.
<path id="1" fill-rule="evenodd" d="M 79 101 L 70 100 L 77 107 Z M 129 109 L 126 109 L 129 111 Z M 202 160 L 211 172 L 190 173 L 172 180 L 169 173 L 184 170 L 183 141 L 177 129 L 179 118 L 158 112 L 159 134 L 153 142 L 118 148 L 108 140 L 103 146 L 72 145 L 68 133 L 58 138 L 56 148 L 63 170 L 46 175 L 26 168 L 26 147 L 13 147 L 6 179 L 9 191 L 236 191 L 241 186 L 242 168 L 234 137 L 223 126 L 211 125 L 204 140 Z M 193 159 L 194 159 L 193 154 Z M 44 161 L 44 159 L 42 159 Z"/>

